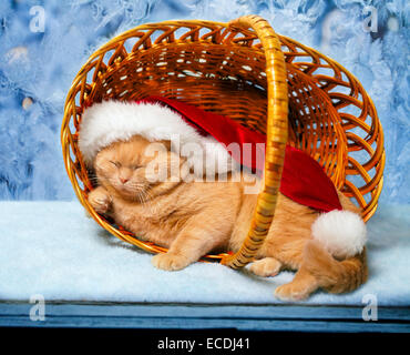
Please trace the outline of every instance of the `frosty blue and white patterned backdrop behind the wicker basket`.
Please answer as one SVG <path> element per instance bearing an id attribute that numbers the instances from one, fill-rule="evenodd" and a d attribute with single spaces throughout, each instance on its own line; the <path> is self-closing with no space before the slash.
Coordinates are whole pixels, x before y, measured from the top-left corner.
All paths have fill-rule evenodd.
<path id="1" fill-rule="evenodd" d="M 30 8 L 45 10 L 30 31 Z M 366 32 L 365 6 L 378 10 Z M 0 199 L 71 200 L 60 148 L 65 94 L 88 57 L 115 34 L 170 19 L 266 18 L 275 30 L 342 63 L 362 82 L 386 134 L 383 203 L 409 203 L 409 1 L 0 1 Z M 25 98 L 32 104 L 25 109 Z M 27 102 L 27 100 L 25 100 Z"/>

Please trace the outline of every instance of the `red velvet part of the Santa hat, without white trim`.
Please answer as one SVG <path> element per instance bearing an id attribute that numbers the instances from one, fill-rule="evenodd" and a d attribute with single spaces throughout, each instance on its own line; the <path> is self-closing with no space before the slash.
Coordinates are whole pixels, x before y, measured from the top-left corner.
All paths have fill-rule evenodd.
<path id="1" fill-rule="evenodd" d="M 253 171 L 264 170 L 265 134 L 245 128 L 227 116 L 204 111 L 177 100 L 150 97 L 136 102 L 158 102 L 180 113 L 184 121 L 194 126 L 199 134 L 211 134 L 225 146 L 238 143 L 239 151 L 228 150 L 230 155 Z M 250 155 L 244 154 L 244 144 L 250 144 L 252 150 L 246 150 L 247 153 L 252 151 Z M 335 185 L 320 164 L 301 150 L 290 145 L 286 146 L 280 192 L 295 202 L 321 212 L 341 210 Z"/>

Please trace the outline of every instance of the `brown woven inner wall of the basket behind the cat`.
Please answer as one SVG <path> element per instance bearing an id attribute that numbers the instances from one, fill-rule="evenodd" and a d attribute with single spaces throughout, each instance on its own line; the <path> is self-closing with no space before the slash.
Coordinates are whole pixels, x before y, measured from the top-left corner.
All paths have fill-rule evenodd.
<path id="1" fill-rule="evenodd" d="M 101 75 L 88 103 L 161 95 L 195 104 L 266 133 L 267 83 L 260 49 L 166 43 L 141 51 Z M 312 155 L 334 183 L 345 180 L 347 144 L 339 116 L 312 78 L 290 63 L 289 143 Z M 338 144 L 339 142 L 339 144 Z"/>

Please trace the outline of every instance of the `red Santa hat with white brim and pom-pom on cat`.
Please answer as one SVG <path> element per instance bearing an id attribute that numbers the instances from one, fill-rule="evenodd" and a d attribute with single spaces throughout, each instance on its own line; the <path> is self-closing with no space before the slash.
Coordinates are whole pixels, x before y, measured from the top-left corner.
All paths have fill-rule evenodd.
<path id="1" fill-rule="evenodd" d="M 172 143 L 177 138 L 180 146 L 198 144 L 206 155 L 203 162 L 207 174 L 226 173 L 240 166 L 260 174 L 264 170 L 266 135 L 227 116 L 160 97 L 135 102 L 104 101 L 85 109 L 80 125 L 79 148 L 85 163 L 91 166 L 101 149 L 116 141 L 126 141 L 133 135 L 141 135 L 148 141 L 170 140 Z M 227 149 L 232 143 L 238 149 Z M 195 159 L 195 154 L 191 155 L 189 163 L 194 165 Z M 286 148 L 280 192 L 293 201 L 320 212 L 341 210 L 336 187 L 320 164 L 290 145 Z M 336 220 L 332 217 L 329 222 L 320 220 L 320 223 L 316 223 L 317 227 L 312 232 L 317 239 L 334 231 Z M 351 216 L 346 219 L 345 213 L 339 222 L 341 230 L 345 230 L 346 223 L 349 224 L 347 220 L 352 222 L 352 230 L 360 230 L 360 236 L 355 240 L 358 243 L 355 242 L 355 247 L 350 245 L 346 248 L 346 240 L 340 236 L 344 233 L 339 233 L 335 237 L 334 251 L 329 246 L 331 243 L 327 241 L 334 255 L 352 255 L 360 252 L 365 243 L 362 222 L 359 223 Z M 356 236 L 357 234 L 355 233 Z"/>

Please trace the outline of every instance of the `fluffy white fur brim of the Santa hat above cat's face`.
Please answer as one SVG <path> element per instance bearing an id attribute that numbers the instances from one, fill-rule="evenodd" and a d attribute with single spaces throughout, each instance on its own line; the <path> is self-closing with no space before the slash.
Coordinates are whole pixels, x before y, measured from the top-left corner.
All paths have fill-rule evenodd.
<path id="1" fill-rule="evenodd" d="M 213 136 L 201 135 L 187 124 L 178 113 L 158 103 L 133 103 L 124 101 L 103 101 L 84 110 L 80 124 L 79 148 L 85 164 L 91 166 L 100 150 L 117 141 L 127 141 L 133 135 L 141 135 L 148 141 L 180 139 L 180 146 L 174 150 L 189 150 L 188 143 L 198 144 L 205 156 L 204 173 L 226 173 L 238 164 Z M 183 154 L 182 154 L 183 155 Z M 189 154 L 189 164 L 195 164 L 194 154 Z M 216 162 L 216 163 L 215 163 Z"/>

